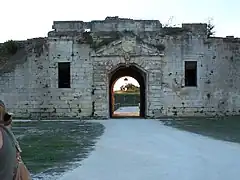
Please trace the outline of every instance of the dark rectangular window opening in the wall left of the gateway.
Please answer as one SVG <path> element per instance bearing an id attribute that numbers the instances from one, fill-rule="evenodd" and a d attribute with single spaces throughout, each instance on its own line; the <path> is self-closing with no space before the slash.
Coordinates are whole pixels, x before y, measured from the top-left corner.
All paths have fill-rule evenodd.
<path id="1" fill-rule="evenodd" d="M 70 62 L 58 63 L 58 88 L 70 88 Z"/>

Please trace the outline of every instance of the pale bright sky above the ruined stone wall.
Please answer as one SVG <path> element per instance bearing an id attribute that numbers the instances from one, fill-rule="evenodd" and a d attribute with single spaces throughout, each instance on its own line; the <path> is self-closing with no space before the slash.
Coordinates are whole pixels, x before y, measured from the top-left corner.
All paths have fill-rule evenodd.
<path id="1" fill-rule="evenodd" d="M 2 0 L 0 42 L 44 37 L 55 20 L 103 20 L 106 16 L 160 20 L 166 24 L 213 19 L 216 36 L 240 37 L 238 0 Z"/>

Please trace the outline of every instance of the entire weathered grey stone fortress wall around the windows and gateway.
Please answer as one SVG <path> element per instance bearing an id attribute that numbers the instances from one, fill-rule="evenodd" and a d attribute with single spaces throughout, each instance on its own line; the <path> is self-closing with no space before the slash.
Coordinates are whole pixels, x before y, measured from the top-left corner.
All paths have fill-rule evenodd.
<path id="1" fill-rule="evenodd" d="M 146 117 L 239 115 L 240 39 L 206 32 L 201 23 L 56 21 L 48 37 L 0 54 L 0 98 L 19 118 L 109 118 L 109 74 L 134 65 L 146 75 Z M 185 61 L 197 62 L 196 87 L 184 84 Z M 59 62 L 71 63 L 71 88 L 58 88 Z"/>

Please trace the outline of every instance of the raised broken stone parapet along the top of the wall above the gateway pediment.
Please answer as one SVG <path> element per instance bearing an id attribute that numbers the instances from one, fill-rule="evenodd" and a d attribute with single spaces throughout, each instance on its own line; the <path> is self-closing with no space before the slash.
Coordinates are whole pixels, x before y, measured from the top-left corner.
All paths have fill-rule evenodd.
<path id="1" fill-rule="evenodd" d="M 84 21 L 54 21 L 53 31 L 49 36 L 63 35 L 73 36 L 77 33 L 83 33 L 86 30 L 97 32 L 123 32 L 132 31 L 134 33 L 142 32 L 165 32 L 171 31 L 177 33 L 189 31 L 193 34 L 206 35 L 207 24 L 205 23 L 183 23 L 182 27 L 163 27 L 159 20 L 138 20 L 130 18 L 106 17 L 104 20 Z M 164 34 L 163 34 L 164 35 Z M 168 34 L 167 34 L 168 35 Z"/>

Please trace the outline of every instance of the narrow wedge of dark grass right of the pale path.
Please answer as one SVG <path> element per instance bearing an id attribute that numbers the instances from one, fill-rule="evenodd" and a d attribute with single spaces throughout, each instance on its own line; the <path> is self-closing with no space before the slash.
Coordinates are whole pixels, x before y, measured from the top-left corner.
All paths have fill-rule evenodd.
<path id="1" fill-rule="evenodd" d="M 165 125 L 215 139 L 240 143 L 240 116 L 215 118 L 175 118 L 163 120 Z"/>

